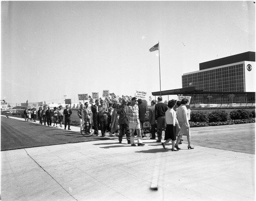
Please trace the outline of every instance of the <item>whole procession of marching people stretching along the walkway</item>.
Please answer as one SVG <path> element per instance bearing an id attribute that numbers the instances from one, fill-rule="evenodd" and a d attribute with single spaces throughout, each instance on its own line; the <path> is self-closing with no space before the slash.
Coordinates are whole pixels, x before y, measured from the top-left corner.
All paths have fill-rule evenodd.
<path id="1" fill-rule="evenodd" d="M 158 102 L 151 102 L 149 108 L 148 121 L 151 124 L 151 138 L 156 139 L 156 142 L 162 142 L 162 132 L 165 132 L 164 142 L 161 143 L 163 148 L 169 141 L 172 141 L 172 151 L 180 149 L 179 144 L 182 144 L 182 136 L 187 136 L 188 149 L 193 149 L 190 145 L 190 128 L 189 128 L 189 113 L 186 108 L 187 99 L 182 99 L 181 102 L 171 100 L 168 104 L 162 103 L 162 97 L 158 97 Z M 176 106 L 176 107 L 175 107 Z M 174 110 L 176 108 L 176 111 Z M 81 132 L 90 134 L 91 128 L 94 129 L 94 135 L 98 136 L 99 130 L 101 136 L 104 137 L 106 132 L 118 133 L 119 143 L 122 143 L 123 136 L 127 140 L 127 144 L 132 146 L 144 146 L 143 144 L 143 124 L 145 122 L 146 105 L 142 99 L 133 97 L 131 102 L 122 98 L 120 103 L 108 103 L 102 99 L 97 99 L 95 105 L 89 107 L 89 103 L 80 105 L 77 115 L 80 119 Z M 38 115 L 39 123 L 44 125 L 62 127 L 63 116 L 65 116 L 65 130 L 70 129 L 72 110 L 69 106 L 62 109 L 62 106 L 54 107 L 53 111 L 50 107 L 40 107 L 38 111 L 35 108 L 24 111 L 26 121 L 35 121 L 36 114 Z M 157 130 L 157 136 L 156 136 Z M 135 144 L 135 136 L 137 136 L 137 145 Z M 175 142 L 176 141 L 176 142 Z"/>

